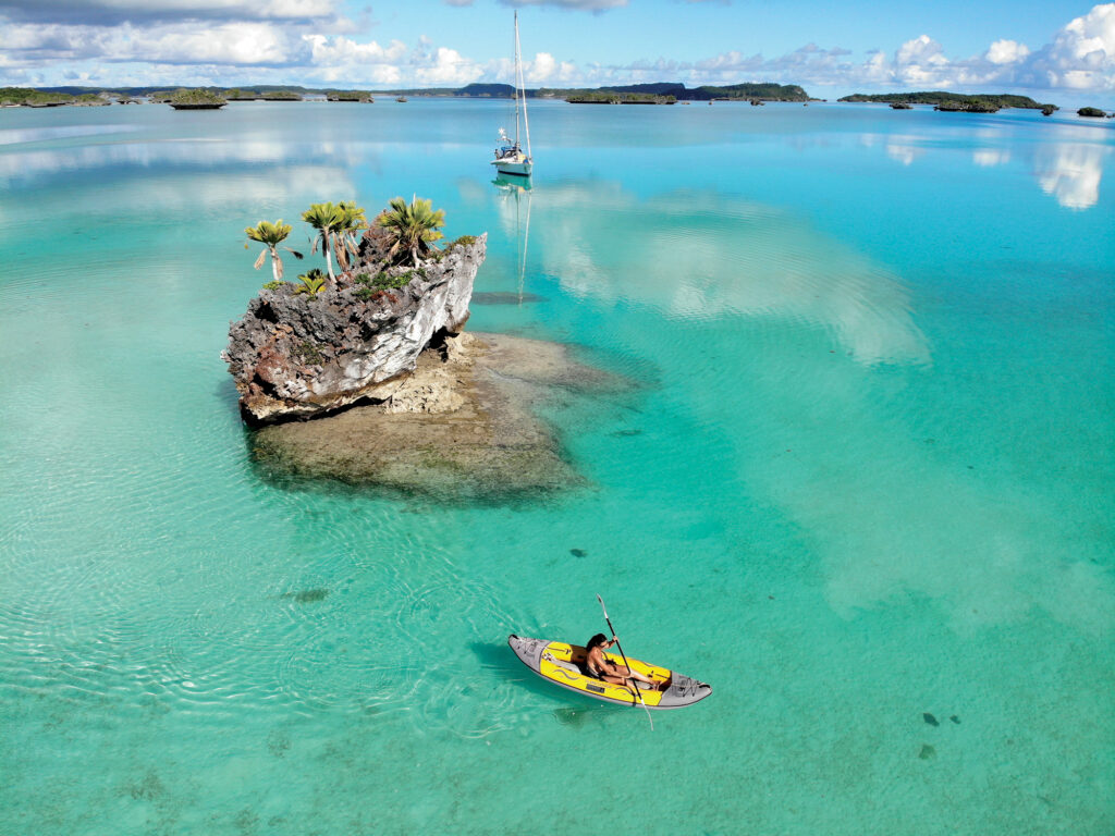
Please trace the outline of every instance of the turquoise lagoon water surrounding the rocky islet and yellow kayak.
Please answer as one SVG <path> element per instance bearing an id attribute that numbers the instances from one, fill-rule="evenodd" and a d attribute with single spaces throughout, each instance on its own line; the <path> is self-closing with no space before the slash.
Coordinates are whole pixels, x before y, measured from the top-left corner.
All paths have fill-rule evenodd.
<path id="1" fill-rule="evenodd" d="M 0 114 L 0 833 L 1109 834 L 1111 124 L 540 103 L 523 192 L 504 115 Z M 241 231 L 413 193 L 638 383 L 547 407 L 584 489 L 253 466 Z M 535 680 L 597 593 L 714 694 Z"/>

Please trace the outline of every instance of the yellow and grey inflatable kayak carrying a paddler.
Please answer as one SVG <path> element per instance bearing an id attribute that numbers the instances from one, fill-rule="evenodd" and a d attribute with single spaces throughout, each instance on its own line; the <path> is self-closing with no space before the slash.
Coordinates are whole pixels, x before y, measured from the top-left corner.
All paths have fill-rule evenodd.
<path id="1" fill-rule="evenodd" d="M 638 706 L 639 697 L 647 708 L 685 708 L 712 693 L 712 686 L 690 677 L 677 673 L 667 668 L 648 664 L 638 659 L 627 658 L 632 671 L 660 683 L 658 688 L 646 682 L 637 683 L 639 693 L 630 684 L 604 682 L 584 673 L 584 660 L 588 651 L 579 644 L 552 642 L 545 639 L 524 639 L 512 633 L 507 644 L 515 651 L 523 664 L 545 680 L 562 688 L 578 691 L 585 697 L 594 697 L 605 702 L 618 702 L 622 706 Z M 623 667 L 623 658 L 619 653 L 604 653 L 604 658 Z"/>

